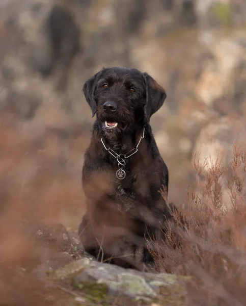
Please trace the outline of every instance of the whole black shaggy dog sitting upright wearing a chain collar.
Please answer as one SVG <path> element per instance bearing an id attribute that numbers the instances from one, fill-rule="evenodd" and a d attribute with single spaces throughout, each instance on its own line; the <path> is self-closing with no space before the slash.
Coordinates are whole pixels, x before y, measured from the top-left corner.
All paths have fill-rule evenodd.
<path id="1" fill-rule="evenodd" d="M 103 68 L 83 90 L 97 119 L 83 166 L 88 203 L 79 236 L 98 260 L 139 269 L 124 251 L 134 258 L 140 247 L 142 262 L 153 262 L 146 238 L 157 239 L 172 217 L 159 192 L 168 191 L 168 168 L 149 124 L 166 92 L 147 73 L 119 67 Z"/>

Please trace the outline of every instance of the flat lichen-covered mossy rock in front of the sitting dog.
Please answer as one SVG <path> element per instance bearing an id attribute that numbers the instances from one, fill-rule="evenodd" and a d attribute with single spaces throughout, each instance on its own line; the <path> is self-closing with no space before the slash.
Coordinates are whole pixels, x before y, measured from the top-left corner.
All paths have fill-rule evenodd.
<path id="1" fill-rule="evenodd" d="M 145 273 L 84 258 L 57 269 L 50 276 L 86 298 L 102 305 L 182 305 L 189 277 Z M 116 303 L 117 299 L 117 303 Z"/>

